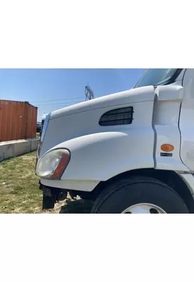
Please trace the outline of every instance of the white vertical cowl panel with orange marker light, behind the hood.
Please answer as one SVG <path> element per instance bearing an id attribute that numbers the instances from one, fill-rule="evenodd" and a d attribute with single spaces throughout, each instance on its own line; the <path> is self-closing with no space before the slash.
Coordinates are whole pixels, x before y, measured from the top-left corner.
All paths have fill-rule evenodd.
<path id="1" fill-rule="evenodd" d="M 156 169 L 170 171 L 189 171 L 180 157 L 181 135 L 178 128 L 179 113 L 183 99 L 182 82 L 157 87 L 154 103 L 153 128 L 155 132 Z M 162 144 L 171 144 L 174 151 L 171 157 L 162 157 Z"/>

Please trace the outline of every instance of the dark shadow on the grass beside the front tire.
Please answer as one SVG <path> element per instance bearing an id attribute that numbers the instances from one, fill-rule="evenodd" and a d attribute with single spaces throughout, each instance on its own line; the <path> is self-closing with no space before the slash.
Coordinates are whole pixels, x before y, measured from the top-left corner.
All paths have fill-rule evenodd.
<path id="1" fill-rule="evenodd" d="M 66 205 L 61 207 L 59 214 L 90 214 L 92 204 L 89 200 L 66 200 Z"/>

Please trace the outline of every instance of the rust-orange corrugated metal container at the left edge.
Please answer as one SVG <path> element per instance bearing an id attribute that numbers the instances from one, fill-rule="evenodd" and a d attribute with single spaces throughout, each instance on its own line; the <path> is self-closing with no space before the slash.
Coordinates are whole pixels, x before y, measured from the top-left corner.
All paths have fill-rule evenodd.
<path id="1" fill-rule="evenodd" d="M 28 102 L 0 100 L 0 142 L 35 138 L 37 107 Z"/>

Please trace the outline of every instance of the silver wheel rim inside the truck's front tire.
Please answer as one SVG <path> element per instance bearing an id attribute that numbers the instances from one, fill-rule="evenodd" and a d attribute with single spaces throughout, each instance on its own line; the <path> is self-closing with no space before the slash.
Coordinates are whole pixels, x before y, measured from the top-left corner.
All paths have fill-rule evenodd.
<path id="1" fill-rule="evenodd" d="M 164 209 L 155 204 L 133 204 L 133 206 L 125 209 L 121 214 L 166 214 Z"/>

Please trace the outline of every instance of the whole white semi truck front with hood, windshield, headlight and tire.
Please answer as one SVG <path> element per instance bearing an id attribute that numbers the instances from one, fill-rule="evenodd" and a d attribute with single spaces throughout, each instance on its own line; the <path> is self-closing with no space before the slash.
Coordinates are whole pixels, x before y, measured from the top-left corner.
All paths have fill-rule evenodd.
<path id="1" fill-rule="evenodd" d="M 194 69 L 145 69 L 131 90 L 47 115 L 42 208 L 80 195 L 91 213 L 194 212 Z"/>

